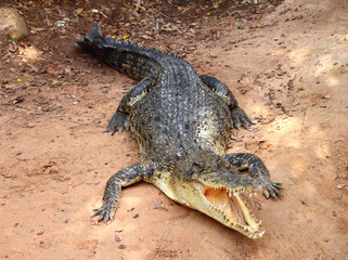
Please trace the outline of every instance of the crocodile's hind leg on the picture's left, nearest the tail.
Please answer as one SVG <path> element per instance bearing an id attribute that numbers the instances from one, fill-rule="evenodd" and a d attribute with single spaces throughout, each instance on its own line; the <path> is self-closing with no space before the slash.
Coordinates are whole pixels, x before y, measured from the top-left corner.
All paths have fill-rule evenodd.
<path id="1" fill-rule="evenodd" d="M 129 130 L 129 113 L 132 106 L 151 91 L 151 88 L 156 84 L 156 81 L 154 76 L 149 76 L 132 88 L 119 102 L 116 113 L 108 121 L 104 132 L 113 135 L 116 131 L 121 132 L 124 128 Z"/>

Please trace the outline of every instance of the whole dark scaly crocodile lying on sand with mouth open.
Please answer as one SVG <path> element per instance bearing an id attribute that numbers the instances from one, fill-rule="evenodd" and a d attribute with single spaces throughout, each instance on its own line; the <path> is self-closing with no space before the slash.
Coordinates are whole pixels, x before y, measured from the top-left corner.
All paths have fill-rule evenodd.
<path id="1" fill-rule="evenodd" d="M 257 156 L 224 153 L 231 129 L 254 123 L 228 87 L 198 75 L 175 54 L 104 38 L 99 24 L 77 46 L 139 81 L 120 100 L 104 131 L 112 135 L 131 130 L 140 162 L 108 179 L 103 204 L 92 217 L 112 220 L 121 188 L 145 181 L 249 238 L 261 237 L 265 229 L 250 213 L 246 197 L 259 192 L 276 198 L 283 196 L 283 187 L 270 180 Z"/>

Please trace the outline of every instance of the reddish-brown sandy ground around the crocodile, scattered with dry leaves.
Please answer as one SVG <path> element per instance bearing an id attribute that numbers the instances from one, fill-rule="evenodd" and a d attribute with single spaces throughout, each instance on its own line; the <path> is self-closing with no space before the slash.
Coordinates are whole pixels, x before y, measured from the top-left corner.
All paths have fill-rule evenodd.
<path id="1" fill-rule="evenodd" d="M 198 32 L 142 38 L 224 81 L 257 122 L 232 130 L 227 151 L 258 155 L 286 187 L 282 199 L 249 199 L 267 230 L 257 240 L 146 183 L 123 191 L 112 222 L 90 218 L 107 179 L 139 161 L 130 132 L 102 133 L 136 82 L 74 44 L 96 18 L 107 34 L 121 27 L 126 38 L 131 27 L 81 10 L 70 27 L 56 27 L 77 8 L 100 8 L 69 3 L 40 12 L 7 3 L 34 34 L 1 46 L 1 259 L 348 259 L 347 2 L 286 0 L 254 16 L 212 12 Z"/>

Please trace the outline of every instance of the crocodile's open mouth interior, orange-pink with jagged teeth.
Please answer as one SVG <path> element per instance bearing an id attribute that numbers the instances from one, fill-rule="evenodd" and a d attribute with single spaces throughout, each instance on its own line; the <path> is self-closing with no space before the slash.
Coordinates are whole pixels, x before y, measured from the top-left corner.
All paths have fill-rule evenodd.
<path id="1" fill-rule="evenodd" d="M 215 188 L 203 185 L 202 192 L 210 203 L 210 207 L 222 214 L 223 224 L 250 238 L 258 238 L 263 235 L 265 230 L 260 226 L 261 221 L 258 222 L 255 219 L 241 196 L 241 193 L 247 193 L 244 187 L 228 191 L 223 187 Z M 252 196 L 253 193 L 248 193 L 248 195 Z"/>

